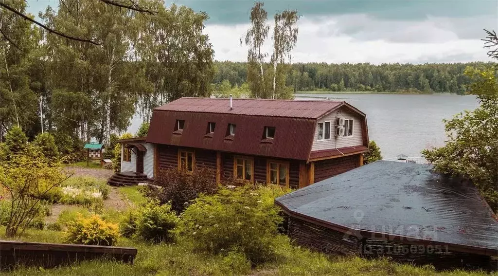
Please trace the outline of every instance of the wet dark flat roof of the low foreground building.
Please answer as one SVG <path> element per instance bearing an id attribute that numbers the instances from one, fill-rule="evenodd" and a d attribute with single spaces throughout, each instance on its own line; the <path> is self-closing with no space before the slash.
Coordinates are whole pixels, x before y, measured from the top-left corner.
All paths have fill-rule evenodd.
<path id="1" fill-rule="evenodd" d="M 341 232 L 498 254 L 498 224 L 474 185 L 427 164 L 375 161 L 275 199 Z"/>

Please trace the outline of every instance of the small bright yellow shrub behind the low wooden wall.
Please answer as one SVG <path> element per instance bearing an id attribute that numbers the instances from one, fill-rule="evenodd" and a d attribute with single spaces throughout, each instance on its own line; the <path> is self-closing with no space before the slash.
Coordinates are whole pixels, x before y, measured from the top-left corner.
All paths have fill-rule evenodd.
<path id="1" fill-rule="evenodd" d="M 118 226 L 105 222 L 99 215 L 79 217 L 70 223 L 64 238 L 66 243 L 112 246 L 118 240 Z"/>

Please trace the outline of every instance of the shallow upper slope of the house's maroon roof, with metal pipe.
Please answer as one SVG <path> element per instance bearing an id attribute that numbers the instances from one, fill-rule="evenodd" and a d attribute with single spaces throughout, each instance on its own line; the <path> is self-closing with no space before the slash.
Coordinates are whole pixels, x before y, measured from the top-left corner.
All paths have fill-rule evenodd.
<path id="1" fill-rule="evenodd" d="M 155 110 L 318 119 L 344 105 L 337 101 L 180 98 Z"/>

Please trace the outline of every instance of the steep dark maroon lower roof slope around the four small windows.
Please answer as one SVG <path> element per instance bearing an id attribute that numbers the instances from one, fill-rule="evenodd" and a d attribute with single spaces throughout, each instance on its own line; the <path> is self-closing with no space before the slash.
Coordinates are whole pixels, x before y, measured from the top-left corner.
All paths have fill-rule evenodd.
<path id="1" fill-rule="evenodd" d="M 174 134 L 176 120 L 185 120 L 183 131 Z M 208 122 L 215 122 L 212 137 L 206 136 Z M 228 124 L 235 124 L 227 138 Z M 197 147 L 239 154 L 307 160 L 316 120 L 302 118 L 157 111 L 152 114 L 147 142 Z M 273 139 L 263 139 L 264 127 L 275 127 Z M 227 138 L 227 139 L 226 139 Z"/>

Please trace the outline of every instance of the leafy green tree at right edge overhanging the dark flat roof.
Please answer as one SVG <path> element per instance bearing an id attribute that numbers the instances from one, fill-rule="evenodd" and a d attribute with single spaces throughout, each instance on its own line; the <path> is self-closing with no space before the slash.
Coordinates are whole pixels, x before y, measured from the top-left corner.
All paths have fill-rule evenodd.
<path id="1" fill-rule="evenodd" d="M 422 151 L 436 170 L 471 179 L 491 207 L 498 210 L 498 84 L 494 69 L 466 70 L 475 82 L 469 94 L 477 95 L 481 106 L 444 120 L 448 140 L 445 146 Z"/>

